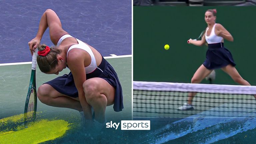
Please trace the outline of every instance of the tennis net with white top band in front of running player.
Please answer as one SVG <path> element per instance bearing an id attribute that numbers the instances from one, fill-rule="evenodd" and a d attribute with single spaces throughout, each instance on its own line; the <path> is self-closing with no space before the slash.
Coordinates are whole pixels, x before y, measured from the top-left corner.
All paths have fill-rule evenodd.
<path id="1" fill-rule="evenodd" d="M 194 110 L 180 111 L 189 92 Z M 133 82 L 133 117 L 256 117 L 256 86 Z"/>

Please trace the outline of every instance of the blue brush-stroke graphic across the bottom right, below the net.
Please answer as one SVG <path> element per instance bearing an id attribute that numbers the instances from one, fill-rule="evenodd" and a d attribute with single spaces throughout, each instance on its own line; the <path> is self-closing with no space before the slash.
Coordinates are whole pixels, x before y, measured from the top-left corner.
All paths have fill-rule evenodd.
<path id="1" fill-rule="evenodd" d="M 186 118 L 151 118 L 152 130 L 141 137 L 150 144 L 254 144 L 256 141 L 256 111 L 237 114 L 237 117 L 207 117 L 217 110 Z M 242 116 L 242 117 L 239 117 Z M 149 118 L 148 118 L 149 119 Z M 146 118 L 144 118 L 146 120 Z"/>

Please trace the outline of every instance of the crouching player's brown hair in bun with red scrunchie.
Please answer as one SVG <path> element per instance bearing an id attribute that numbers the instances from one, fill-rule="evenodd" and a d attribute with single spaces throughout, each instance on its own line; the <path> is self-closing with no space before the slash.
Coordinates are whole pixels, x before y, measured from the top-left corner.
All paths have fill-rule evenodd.
<path id="1" fill-rule="evenodd" d="M 43 73 L 48 73 L 56 66 L 58 66 L 57 54 L 61 53 L 61 50 L 56 47 L 48 47 L 46 44 L 38 46 L 37 64 L 39 69 Z"/>

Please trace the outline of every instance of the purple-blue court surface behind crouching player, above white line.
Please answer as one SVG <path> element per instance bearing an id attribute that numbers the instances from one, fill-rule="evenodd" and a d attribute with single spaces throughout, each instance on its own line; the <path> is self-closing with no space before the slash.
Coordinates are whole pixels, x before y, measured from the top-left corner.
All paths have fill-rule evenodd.
<path id="1" fill-rule="evenodd" d="M 0 1 L 0 63 L 31 61 L 28 42 L 35 37 L 46 9 L 57 13 L 70 35 L 95 47 L 103 56 L 131 55 L 131 4 L 130 0 Z M 52 44 L 49 30 L 41 43 Z"/>

